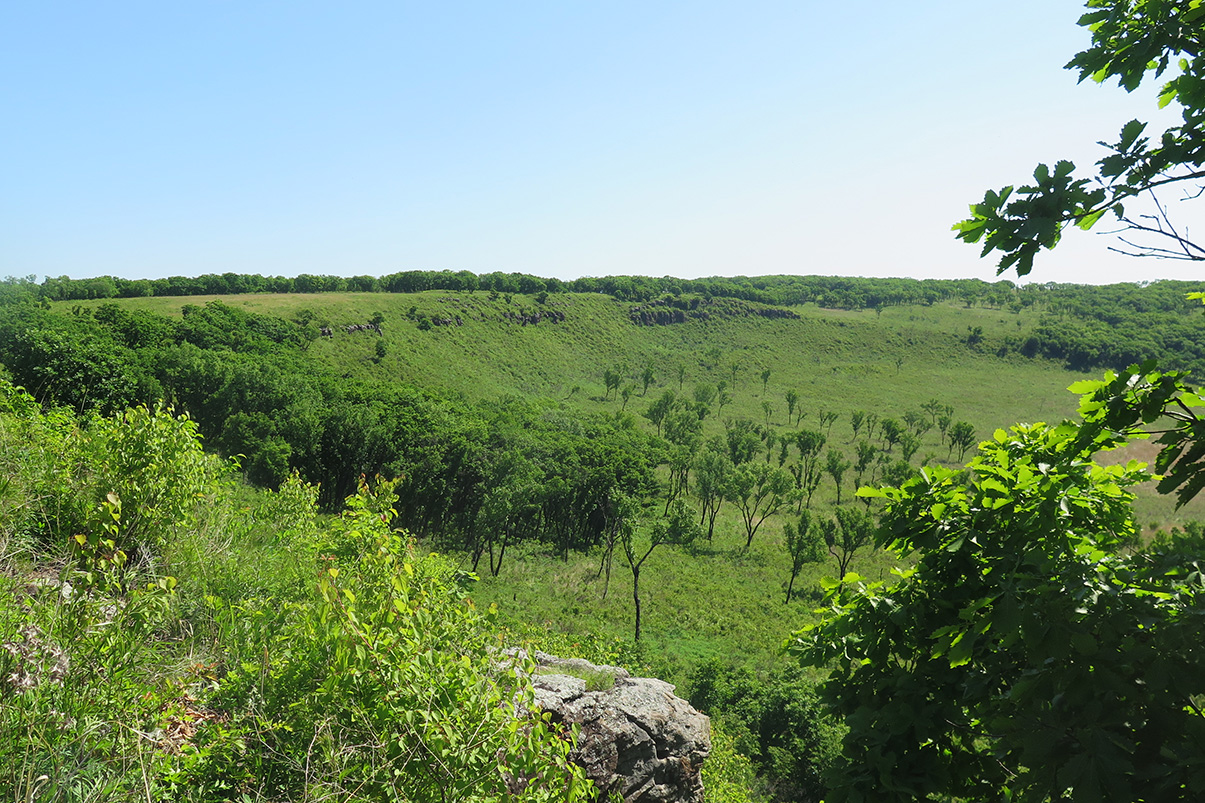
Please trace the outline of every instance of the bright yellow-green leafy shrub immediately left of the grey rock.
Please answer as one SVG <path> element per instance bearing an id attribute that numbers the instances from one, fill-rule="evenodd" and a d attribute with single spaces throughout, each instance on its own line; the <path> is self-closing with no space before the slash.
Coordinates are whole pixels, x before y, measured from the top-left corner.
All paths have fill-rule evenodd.
<path id="1" fill-rule="evenodd" d="M 534 668 L 501 658 L 465 596 L 472 575 L 388 528 L 392 494 L 348 499 L 318 540 L 318 599 L 295 609 L 270 662 L 222 682 L 225 744 L 202 745 L 176 781 L 216 797 L 241 778 L 274 797 L 588 799 L 572 740 L 529 713 Z"/>

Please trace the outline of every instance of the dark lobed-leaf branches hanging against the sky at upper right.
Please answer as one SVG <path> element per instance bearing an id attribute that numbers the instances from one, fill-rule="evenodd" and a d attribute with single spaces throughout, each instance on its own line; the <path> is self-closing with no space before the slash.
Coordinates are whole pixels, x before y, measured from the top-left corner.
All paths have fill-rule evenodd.
<path id="1" fill-rule="evenodd" d="M 1174 259 L 1205 259 L 1205 246 L 1188 239 L 1166 213 L 1157 194 L 1172 184 L 1205 178 L 1205 60 L 1201 59 L 1205 5 L 1201 0 L 1088 0 L 1080 25 L 1092 31 L 1092 46 L 1068 63 L 1103 83 L 1116 78 L 1133 92 L 1147 77 L 1172 77 L 1159 90 L 1159 107 L 1177 104 L 1182 125 L 1147 135 L 1147 124 L 1127 123 L 1116 142 L 1100 142 L 1109 153 L 1097 162 L 1097 175 L 1080 177 L 1071 162 L 1053 171 L 1034 170 L 1034 183 L 988 191 L 971 205 L 971 216 L 954 224 L 957 238 L 983 244 L 982 256 L 1001 253 L 998 271 L 1024 276 L 1042 248 L 1053 248 L 1069 224 L 1093 228 L 1106 213 L 1122 225 L 1122 253 Z M 1198 186 L 1185 199 L 1199 198 Z M 1127 205 L 1150 197 L 1154 215 L 1134 215 Z M 1138 236 L 1154 238 L 1150 245 Z"/>

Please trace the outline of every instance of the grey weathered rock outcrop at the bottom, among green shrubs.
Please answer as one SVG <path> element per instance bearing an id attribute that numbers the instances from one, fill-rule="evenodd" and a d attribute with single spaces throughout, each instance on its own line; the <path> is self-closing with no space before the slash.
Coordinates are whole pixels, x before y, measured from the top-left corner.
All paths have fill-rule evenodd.
<path id="1" fill-rule="evenodd" d="M 547 673 L 533 678 L 535 702 L 554 721 L 581 726 L 572 758 L 604 799 L 619 792 L 624 803 L 703 803 L 699 770 L 711 752 L 711 720 L 672 685 L 581 658 L 534 657 Z M 613 676 L 615 685 L 587 691 L 574 675 Z"/>

